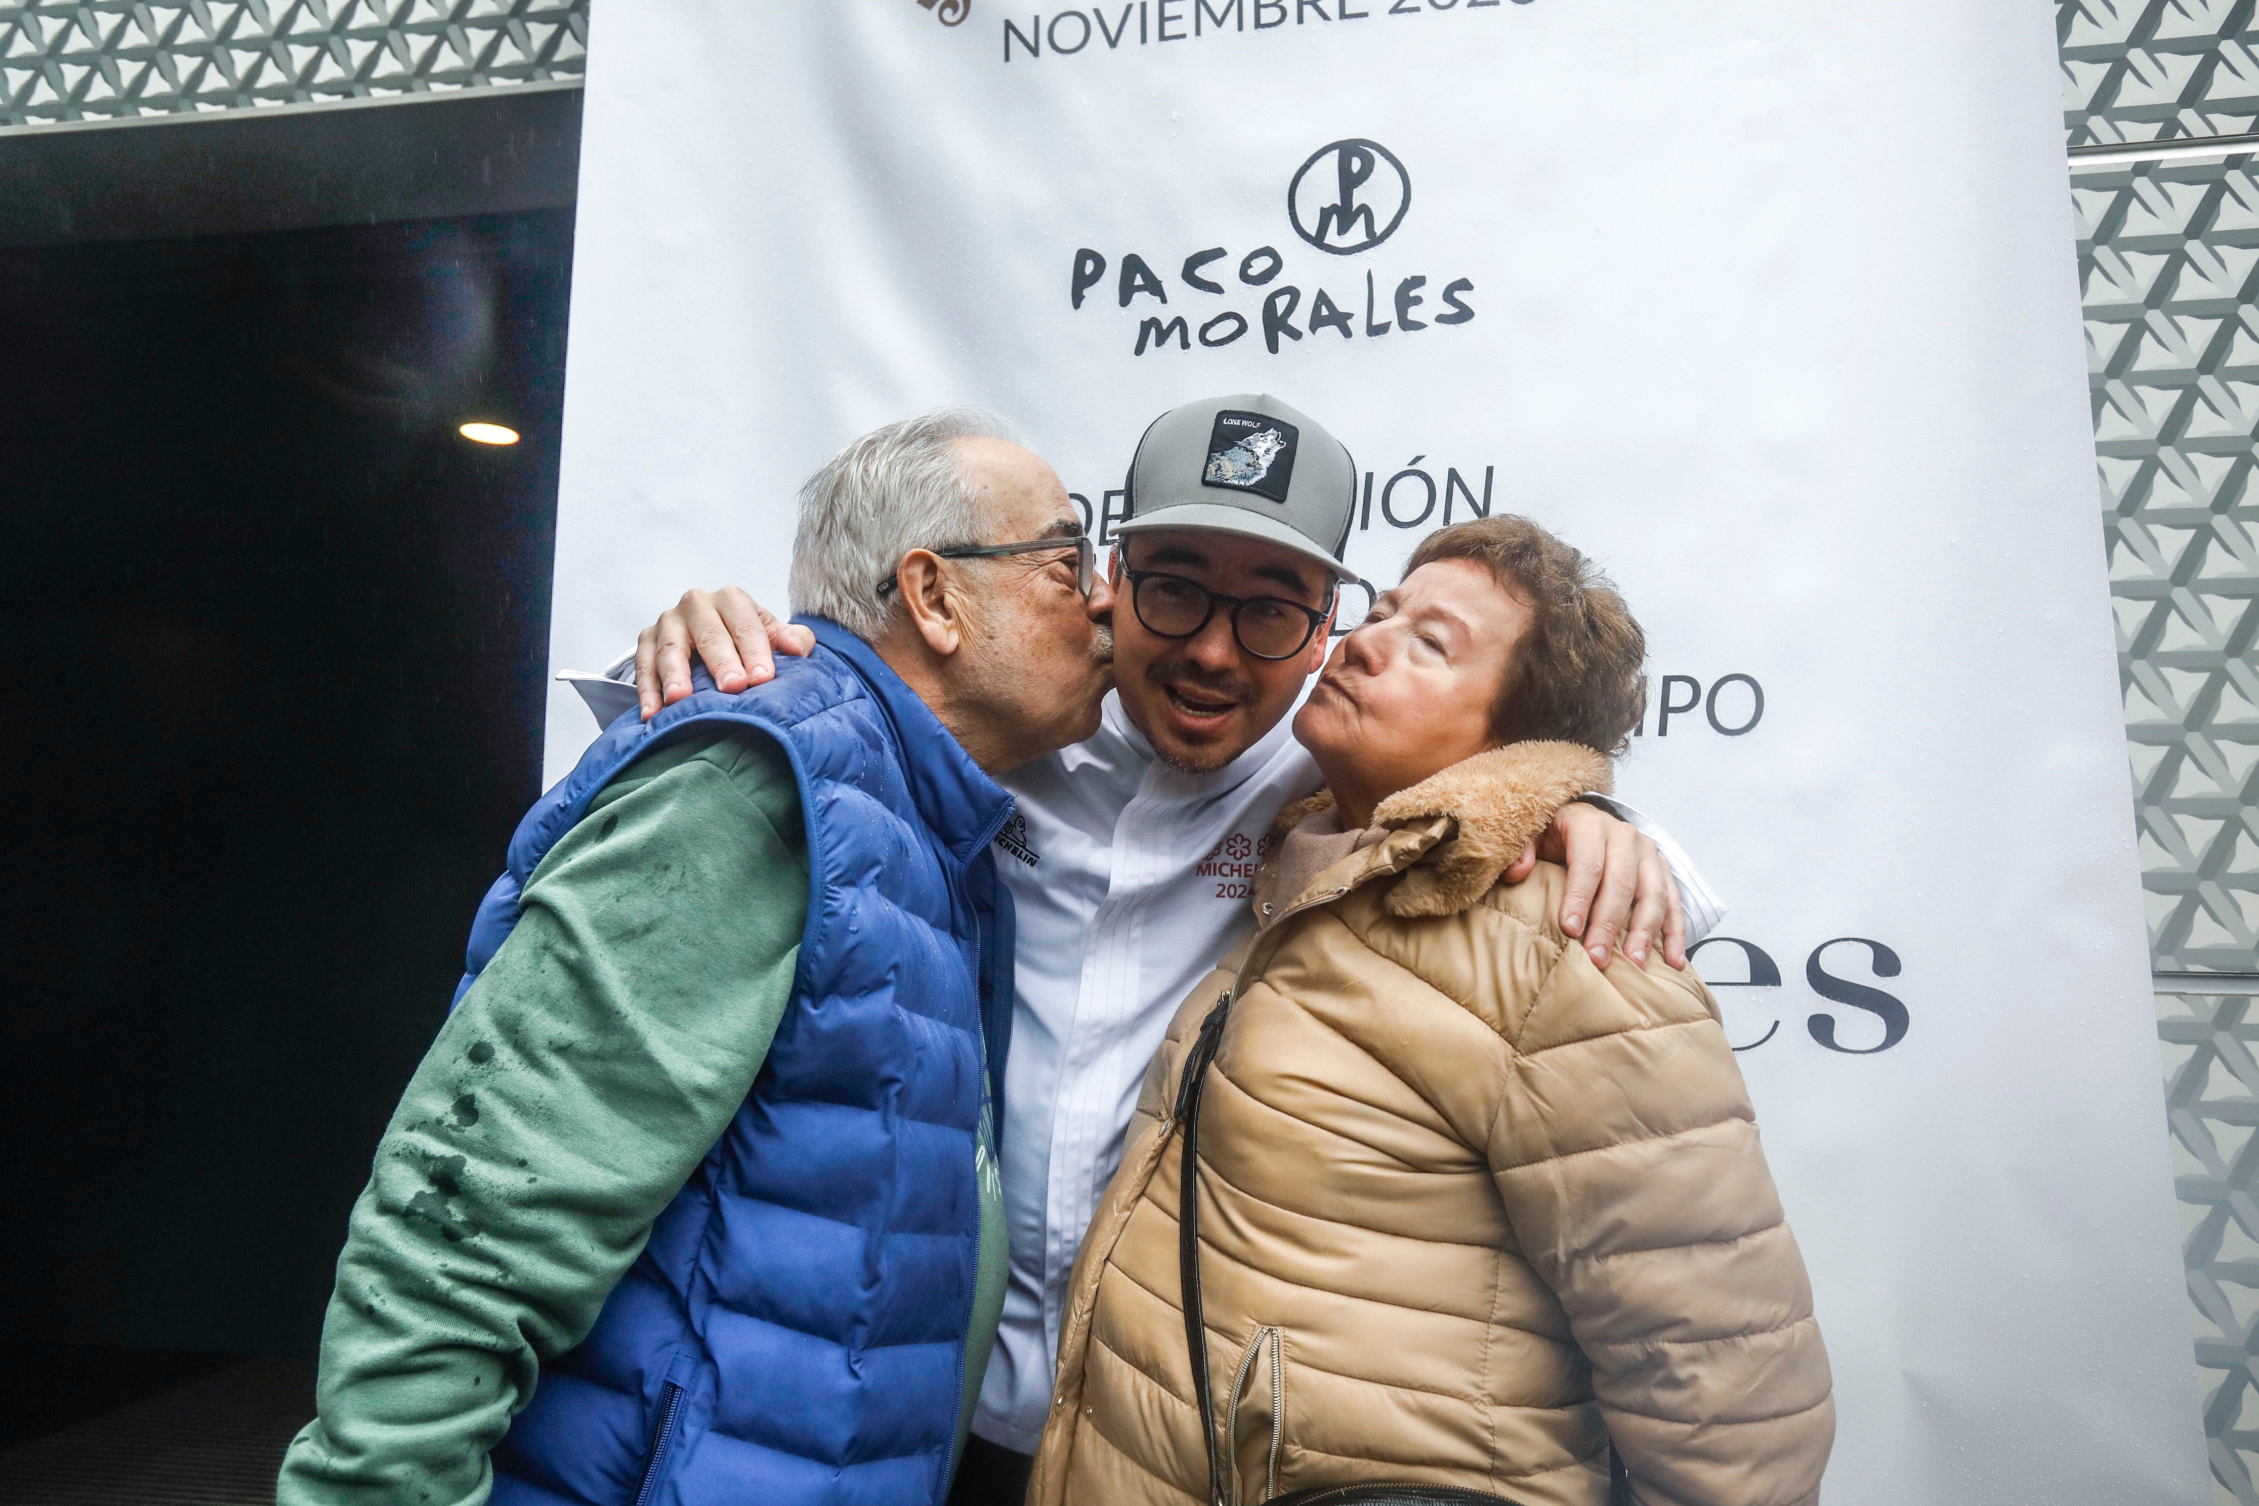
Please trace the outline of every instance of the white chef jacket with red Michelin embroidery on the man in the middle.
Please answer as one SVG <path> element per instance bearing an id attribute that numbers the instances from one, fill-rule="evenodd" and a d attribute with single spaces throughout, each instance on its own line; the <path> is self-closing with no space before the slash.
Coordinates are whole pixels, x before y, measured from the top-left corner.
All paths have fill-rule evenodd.
<path id="1" fill-rule="evenodd" d="M 1152 756 L 1120 698 L 1098 734 L 998 777 L 1017 815 L 996 867 L 1019 917 L 1003 1077 L 1003 1201 L 1012 1264 L 974 1431 L 1032 1454 L 1082 1231 L 1177 1005 L 1251 923 L 1256 863 L 1279 808 L 1324 783 L 1292 718 L 1213 774 Z M 1606 802 L 1672 863 L 1687 944 L 1724 917 L 1667 833 Z"/>

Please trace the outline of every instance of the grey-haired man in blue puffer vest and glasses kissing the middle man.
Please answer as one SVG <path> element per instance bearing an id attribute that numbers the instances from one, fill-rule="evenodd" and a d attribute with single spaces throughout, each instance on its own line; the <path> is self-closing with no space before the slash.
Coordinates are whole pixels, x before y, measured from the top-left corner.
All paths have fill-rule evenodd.
<path id="1" fill-rule="evenodd" d="M 969 411 L 802 492 L 815 646 L 526 815 L 352 1210 L 280 1501 L 937 1501 L 1005 1289 L 992 774 L 1091 736 L 1111 592 Z"/>

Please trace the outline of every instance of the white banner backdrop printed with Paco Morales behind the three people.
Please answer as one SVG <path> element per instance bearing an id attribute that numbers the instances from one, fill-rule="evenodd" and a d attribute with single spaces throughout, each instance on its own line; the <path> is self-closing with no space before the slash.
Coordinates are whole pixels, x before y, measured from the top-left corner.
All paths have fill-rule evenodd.
<path id="1" fill-rule="evenodd" d="M 1538 517 L 1647 623 L 1622 788 L 1733 903 L 1828 1499 L 2200 1499 L 2047 9 L 962 11 L 599 7 L 556 666 L 782 603 L 800 479 L 944 402 L 1102 524 L 1159 411 L 1276 393 L 1383 585 Z M 560 689 L 549 772 L 590 734 Z"/>

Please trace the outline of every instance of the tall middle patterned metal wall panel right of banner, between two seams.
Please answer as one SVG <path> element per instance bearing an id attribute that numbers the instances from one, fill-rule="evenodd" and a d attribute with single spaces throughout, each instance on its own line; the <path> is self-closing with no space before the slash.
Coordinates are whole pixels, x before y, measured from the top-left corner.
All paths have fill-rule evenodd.
<path id="1" fill-rule="evenodd" d="M 2078 172 L 2110 585 L 2160 971 L 2259 971 L 2259 174 Z"/>

